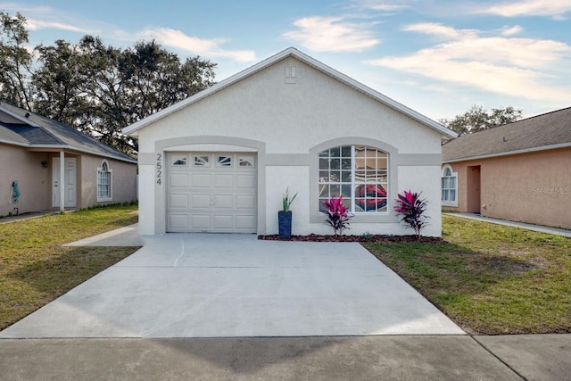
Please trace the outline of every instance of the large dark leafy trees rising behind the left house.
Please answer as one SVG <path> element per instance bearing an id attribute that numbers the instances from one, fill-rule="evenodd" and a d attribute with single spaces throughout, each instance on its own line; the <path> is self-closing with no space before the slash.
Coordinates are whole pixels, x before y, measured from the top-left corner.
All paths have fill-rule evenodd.
<path id="1" fill-rule="evenodd" d="M 0 37 L 18 36 L 6 44 L 12 50 L 0 51 L 3 65 L 6 60 L 14 61 L 12 52 L 18 44 L 28 42 L 28 33 L 24 28 L 26 19 L 20 14 L 0 15 L 3 25 L 6 19 L 10 27 L 4 27 Z M 24 73 L 27 69 L 28 76 L 21 75 L 20 81 L 12 79 L 17 78 L 15 74 L 11 81 L 2 77 L 0 90 L 6 91 L 0 96 L 126 153 L 137 151 L 137 142 L 122 135 L 121 128 L 214 84 L 215 63 L 200 57 L 181 62 L 177 54 L 155 41 L 141 41 L 121 49 L 105 46 L 99 37 L 87 35 L 77 45 L 57 40 L 54 46 L 36 46 L 34 54 L 37 60 L 33 71 L 32 55 L 18 56 L 25 65 L 21 63 L 10 73 Z"/>

